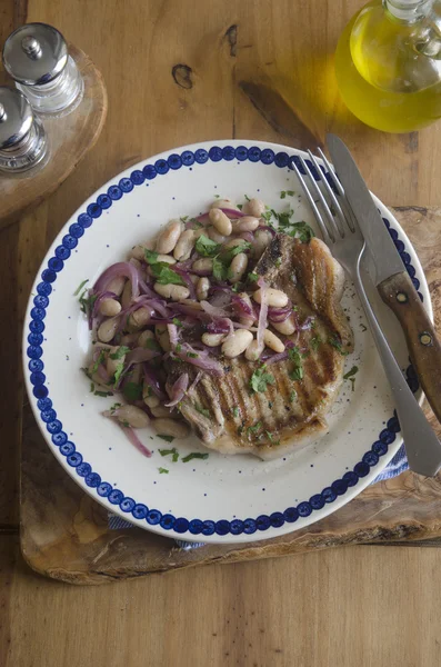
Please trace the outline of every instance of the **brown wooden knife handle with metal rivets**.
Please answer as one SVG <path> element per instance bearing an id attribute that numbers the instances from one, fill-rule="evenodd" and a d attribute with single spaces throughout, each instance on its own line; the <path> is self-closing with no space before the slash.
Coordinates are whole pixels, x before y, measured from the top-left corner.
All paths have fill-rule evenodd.
<path id="1" fill-rule="evenodd" d="M 412 280 L 402 271 L 380 282 L 378 290 L 404 331 L 425 397 L 441 421 L 441 345 Z"/>

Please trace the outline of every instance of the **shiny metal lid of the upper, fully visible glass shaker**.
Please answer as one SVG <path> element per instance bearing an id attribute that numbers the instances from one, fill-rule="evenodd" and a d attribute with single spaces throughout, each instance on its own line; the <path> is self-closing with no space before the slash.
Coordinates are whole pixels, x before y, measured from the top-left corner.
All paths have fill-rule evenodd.
<path id="1" fill-rule="evenodd" d="M 46 23 L 27 23 L 10 34 L 3 47 L 7 72 L 24 86 L 41 86 L 58 77 L 69 51 L 61 32 Z"/>

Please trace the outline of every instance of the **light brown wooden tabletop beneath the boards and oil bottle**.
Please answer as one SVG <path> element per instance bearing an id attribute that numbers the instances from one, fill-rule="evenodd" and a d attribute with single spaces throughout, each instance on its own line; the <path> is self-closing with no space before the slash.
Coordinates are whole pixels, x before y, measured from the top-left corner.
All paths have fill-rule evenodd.
<path id="1" fill-rule="evenodd" d="M 353 547 L 99 588 L 39 578 L 18 549 L 23 309 L 48 245 L 102 182 L 191 141 L 313 146 L 332 130 L 383 201 L 440 203 L 440 125 L 385 136 L 339 99 L 332 53 L 362 3 L 0 0 L 0 41 L 26 21 L 52 23 L 91 56 L 109 91 L 94 150 L 46 203 L 0 233 L 1 666 L 441 664 L 435 548 Z"/>

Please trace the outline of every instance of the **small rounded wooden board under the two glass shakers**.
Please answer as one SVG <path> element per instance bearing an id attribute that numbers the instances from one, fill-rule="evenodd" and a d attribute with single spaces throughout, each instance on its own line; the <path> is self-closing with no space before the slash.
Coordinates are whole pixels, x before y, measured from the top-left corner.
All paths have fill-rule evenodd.
<path id="1" fill-rule="evenodd" d="M 50 159 L 38 173 L 26 178 L 0 175 L 0 228 L 18 219 L 18 215 L 38 206 L 81 162 L 93 148 L 104 125 L 108 99 L 104 81 L 90 58 L 74 46 L 70 54 L 84 82 L 84 93 L 77 109 L 63 118 L 43 117 Z M 9 80 L 12 84 L 12 81 Z M 31 176 L 32 175 L 32 176 Z"/>

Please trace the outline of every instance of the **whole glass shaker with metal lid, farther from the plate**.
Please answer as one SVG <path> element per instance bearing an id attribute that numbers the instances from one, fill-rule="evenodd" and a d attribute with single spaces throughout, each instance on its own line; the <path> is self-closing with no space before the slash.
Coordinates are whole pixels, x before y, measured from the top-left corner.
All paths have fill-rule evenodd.
<path id="1" fill-rule="evenodd" d="M 61 32 L 27 23 L 10 34 L 3 64 L 39 113 L 66 116 L 81 101 L 84 83 Z"/>

